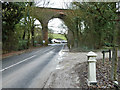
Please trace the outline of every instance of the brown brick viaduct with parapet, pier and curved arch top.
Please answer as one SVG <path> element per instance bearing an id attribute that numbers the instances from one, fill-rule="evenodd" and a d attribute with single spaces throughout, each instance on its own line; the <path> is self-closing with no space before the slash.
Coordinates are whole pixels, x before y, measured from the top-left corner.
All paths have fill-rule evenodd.
<path id="1" fill-rule="evenodd" d="M 42 25 L 42 36 L 43 40 L 48 44 L 48 22 L 51 19 L 59 18 L 65 22 L 67 17 L 67 12 L 72 11 L 68 9 L 57 9 L 57 8 L 42 8 L 42 7 L 32 7 L 31 15 L 35 17 Z"/>

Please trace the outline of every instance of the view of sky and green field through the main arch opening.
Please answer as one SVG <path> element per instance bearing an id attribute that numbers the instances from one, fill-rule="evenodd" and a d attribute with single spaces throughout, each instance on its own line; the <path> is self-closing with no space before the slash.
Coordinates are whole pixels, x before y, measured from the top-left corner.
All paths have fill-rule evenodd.
<path id="1" fill-rule="evenodd" d="M 66 34 L 68 33 L 68 27 L 64 21 L 60 18 L 52 18 L 48 21 L 48 38 L 53 39 L 53 43 L 67 42 Z M 57 43 L 57 42 L 56 42 Z"/>

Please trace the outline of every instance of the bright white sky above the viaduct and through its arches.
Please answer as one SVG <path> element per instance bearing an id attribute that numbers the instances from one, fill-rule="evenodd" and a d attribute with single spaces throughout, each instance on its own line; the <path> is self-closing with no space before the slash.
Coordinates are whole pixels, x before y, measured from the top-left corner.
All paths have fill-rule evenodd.
<path id="1" fill-rule="evenodd" d="M 66 9 L 67 8 L 66 4 L 69 5 L 70 2 L 72 2 L 72 0 L 37 0 L 35 1 L 37 7 L 62 8 L 62 9 Z M 36 21 L 35 23 L 40 24 L 39 21 Z M 61 27 L 61 24 L 65 28 Z M 52 29 L 54 33 L 60 33 L 61 31 L 65 33 L 68 30 L 64 22 L 62 22 L 62 20 L 58 18 L 50 20 L 48 23 L 48 28 Z"/>

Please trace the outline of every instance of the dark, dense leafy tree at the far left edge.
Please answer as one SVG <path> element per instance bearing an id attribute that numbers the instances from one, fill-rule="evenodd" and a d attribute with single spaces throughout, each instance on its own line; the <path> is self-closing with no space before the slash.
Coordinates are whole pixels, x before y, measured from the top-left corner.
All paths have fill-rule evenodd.
<path id="1" fill-rule="evenodd" d="M 18 40 L 15 38 L 15 25 L 23 17 L 24 3 L 3 2 L 2 3 L 2 41 L 3 51 L 15 49 Z M 14 44 L 14 45 L 13 45 Z"/>

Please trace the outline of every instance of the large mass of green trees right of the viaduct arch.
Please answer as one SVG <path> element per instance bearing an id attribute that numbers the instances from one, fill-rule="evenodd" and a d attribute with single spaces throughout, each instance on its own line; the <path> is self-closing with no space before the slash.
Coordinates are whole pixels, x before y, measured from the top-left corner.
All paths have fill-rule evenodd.
<path id="1" fill-rule="evenodd" d="M 73 2 L 72 5 L 72 14 L 68 13 L 70 22 L 66 21 L 73 34 L 71 47 L 97 49 L 113 43 L 115 22 L 111 20 L 116 19 L 115 3 Z"/>

